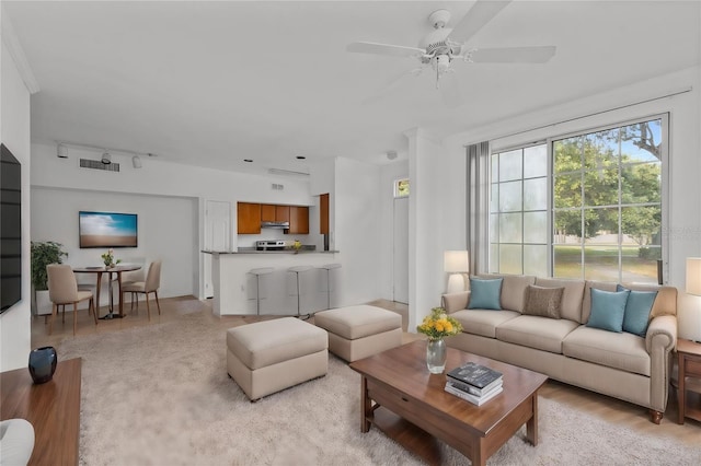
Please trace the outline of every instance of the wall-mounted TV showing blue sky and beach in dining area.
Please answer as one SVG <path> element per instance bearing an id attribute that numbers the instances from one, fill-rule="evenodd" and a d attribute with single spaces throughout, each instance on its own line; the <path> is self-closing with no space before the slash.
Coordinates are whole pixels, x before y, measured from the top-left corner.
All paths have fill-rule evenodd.
<path id="1" fill-rule="evenodd" d="M 137 247 L 136 213 L 78 212 L 80 247 Z"/>

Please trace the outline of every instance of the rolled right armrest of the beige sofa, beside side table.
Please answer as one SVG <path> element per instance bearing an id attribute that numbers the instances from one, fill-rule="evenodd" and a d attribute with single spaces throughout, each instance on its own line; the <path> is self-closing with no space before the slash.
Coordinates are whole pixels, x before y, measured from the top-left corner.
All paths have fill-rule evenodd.
<path id="1" fill-rule="evenodd" d="M 677 316 L 660 315 L 651 321 L 645 335 L 650 353 L 650 407 L 662 412 L 667 408 L 673 350 L 677 347 Z M 655 421 L 657 422 L 657 421 Z M 657 422 L 658 423 L 658 422 Z"/>

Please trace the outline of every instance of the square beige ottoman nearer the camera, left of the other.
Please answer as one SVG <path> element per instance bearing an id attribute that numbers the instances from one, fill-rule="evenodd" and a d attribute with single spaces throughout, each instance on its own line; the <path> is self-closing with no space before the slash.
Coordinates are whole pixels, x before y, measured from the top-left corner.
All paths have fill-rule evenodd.
<path id="1" fill-rule="evenodd" d="M 294 317 L 227 330 L 227 371 L 251 400 L 326 374 L 326 331 Z"/>

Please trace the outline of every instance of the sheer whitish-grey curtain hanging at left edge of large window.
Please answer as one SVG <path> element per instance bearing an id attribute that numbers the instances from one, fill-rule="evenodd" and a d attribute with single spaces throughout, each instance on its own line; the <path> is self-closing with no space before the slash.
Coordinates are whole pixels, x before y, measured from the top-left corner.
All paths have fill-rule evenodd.
<path id="1" fill-rule="evenodd" d="M 490 143 L 467 147 L 467 206 L 466 215 L 470 273 L 490 270 Z"/>

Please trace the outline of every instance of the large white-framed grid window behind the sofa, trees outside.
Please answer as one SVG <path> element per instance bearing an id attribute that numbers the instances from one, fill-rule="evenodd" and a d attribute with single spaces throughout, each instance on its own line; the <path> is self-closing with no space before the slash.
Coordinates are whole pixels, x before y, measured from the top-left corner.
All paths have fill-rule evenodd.
<path id="1" fill-rule="evenodd" d="M 666 125 L 493 153 L 490 271 L 657 282 Z"/>

